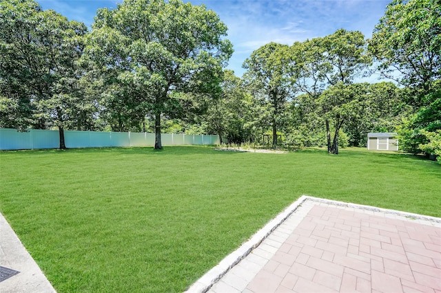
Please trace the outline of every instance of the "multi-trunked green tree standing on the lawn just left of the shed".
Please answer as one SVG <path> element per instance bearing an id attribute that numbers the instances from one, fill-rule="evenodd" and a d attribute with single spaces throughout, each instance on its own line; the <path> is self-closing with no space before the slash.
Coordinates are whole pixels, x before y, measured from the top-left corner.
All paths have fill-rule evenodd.
<path id="1" fill-rule="evenodd" d="M 287 75 L 302 94 L 294 101 L 291 113 L 298 117 L 291 119 L 291 129 L 309 127 L 314 129 L 312 133 L 320 133 L 322 131 L 315 131 L 317 127 L 314 125 L 319 122 L 326 127 L 329 153 L 338 153 L 340 127 L 349 124 L 349 119 L 357 120 L 362 115 L 360 97 L 363 95 L 349 92 L 357 91 L 356 87 L 367 87 L 348 85 L 365 72 L 370 62 L 365 36 L 361 32 L 341 29 L 324 38 L 294 43 L 289 49 Z M 330 133 L 331 127 L 334 135 Z M 310 144 L 314 140 L 305 142 Z"/>

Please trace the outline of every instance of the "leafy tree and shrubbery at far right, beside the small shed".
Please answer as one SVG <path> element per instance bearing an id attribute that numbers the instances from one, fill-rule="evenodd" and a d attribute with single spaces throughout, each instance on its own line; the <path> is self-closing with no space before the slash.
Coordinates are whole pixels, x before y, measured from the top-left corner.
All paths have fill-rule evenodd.
<path id="1" fill-rule="evenodd" d="M 369 40 L 378 70 L 409 87 L 407 103 L 416 113 L 399 128 L 400 146 L 420 153 L 441 129 L 441 2 L 394 0 Z M 427 150 L 427 149 L 426 149 Z"/>

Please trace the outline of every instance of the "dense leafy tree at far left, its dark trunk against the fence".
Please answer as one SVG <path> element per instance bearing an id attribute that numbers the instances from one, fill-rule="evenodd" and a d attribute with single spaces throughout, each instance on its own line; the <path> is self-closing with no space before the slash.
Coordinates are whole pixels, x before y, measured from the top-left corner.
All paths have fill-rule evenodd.
<path id="1" fill-rule="evenodd" d="M 85 103 L 75 61 L 87 28 L 53 10 L 43 11 L 32 0 L 1 1 L 0 15 L 0 94 L 18 112 L 15 126 L 44 129 L 53 124 L 59 129 L 60 149 L 65 149 L 65 123 Z"/>

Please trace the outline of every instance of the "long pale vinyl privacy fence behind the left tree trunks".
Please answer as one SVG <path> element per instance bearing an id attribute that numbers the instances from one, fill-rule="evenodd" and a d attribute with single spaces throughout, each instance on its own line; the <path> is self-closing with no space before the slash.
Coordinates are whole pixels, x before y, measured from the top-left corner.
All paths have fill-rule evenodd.
<path id="1" fill-rule="evenodd" d="M 67 148 L 110 147 L 110 146 L 154 146 L 154 133 L 106 132 L 106 131 L 64 131 Z M 164 146 L 219 144 L 218 135 L 189 135 L 163 133 Z M 58 130 L 0 129 L 0 150 L 14 149 L 58 149 Z"/>

